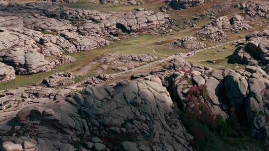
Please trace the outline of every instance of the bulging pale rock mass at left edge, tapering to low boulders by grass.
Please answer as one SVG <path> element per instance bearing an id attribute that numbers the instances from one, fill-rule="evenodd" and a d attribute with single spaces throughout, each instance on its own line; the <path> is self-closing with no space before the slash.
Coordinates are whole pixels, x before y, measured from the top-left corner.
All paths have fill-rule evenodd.
<path id="1" fill-rule="evenodd" d="M 0 32 L 0 62 L 12 66 L 16 74 L 28 75 L 50 71 L 53 67 L 73 62 L 63 58 L 46 60 L 44 55 L 61 55 L 64 50 L 45 35 L 30 29 L 2 28 Z"/>

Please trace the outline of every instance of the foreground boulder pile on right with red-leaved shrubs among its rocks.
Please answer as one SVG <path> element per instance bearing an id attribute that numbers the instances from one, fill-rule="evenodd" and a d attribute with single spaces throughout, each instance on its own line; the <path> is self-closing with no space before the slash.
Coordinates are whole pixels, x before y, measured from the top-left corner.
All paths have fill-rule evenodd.
<path id="1" fill-rule="evenodd" d="M 226 119 L 229 118 L 228 113 L 243 112 L 244 116 L 237 115 L 238 119 L 246 121 L 252 136 L 269 140 L 269 123 L 266 120 L 269 116 L 269 75 L 265 69 L 246 66 L 245 70 L 212 71 L 180 58 L 172 60 L 164 68 L 166 70 L 150 74 L 163 79 L 162 83 L 167 87 L 172 84 L 170 94 L 183 110 L 189 109 L 200 116 L 210 115 L 213 119 L 218 115 Z"/>

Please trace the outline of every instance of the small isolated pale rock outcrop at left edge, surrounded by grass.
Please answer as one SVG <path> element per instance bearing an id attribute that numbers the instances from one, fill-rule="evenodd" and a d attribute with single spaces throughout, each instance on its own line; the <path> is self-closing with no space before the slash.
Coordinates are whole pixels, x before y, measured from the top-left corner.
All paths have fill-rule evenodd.
<path id="1" fill-rule="evenodd" d="M 9 81 L 15 78 L 14 68 L 0 62 L 0 82 Z"/>

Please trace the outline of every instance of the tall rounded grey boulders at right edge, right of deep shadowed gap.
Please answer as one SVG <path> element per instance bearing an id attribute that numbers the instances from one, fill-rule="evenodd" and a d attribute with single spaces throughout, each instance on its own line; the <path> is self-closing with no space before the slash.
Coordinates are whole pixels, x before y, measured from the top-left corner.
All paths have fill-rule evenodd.
<path id="1" fill-rule="evenodd" d="M 224 82 L 230 103 L 234 106 L 245 106 L 247 121 L 251 127 L 252 136 L 262 139 L 269 139 L 269 123 L 265 120 L 268 113 L 268 88 L 269 75 L 257 67 L 247 67 L 247 71 L 229 73 Z"/>

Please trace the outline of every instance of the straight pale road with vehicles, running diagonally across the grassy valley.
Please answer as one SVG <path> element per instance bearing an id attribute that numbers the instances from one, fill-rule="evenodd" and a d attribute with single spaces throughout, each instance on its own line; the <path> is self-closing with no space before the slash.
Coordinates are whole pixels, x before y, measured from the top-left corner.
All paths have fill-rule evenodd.
<path id="1" fill-rule="evenodd" d="M 195 50 L 195 51 L 191 51 L 191 52 L 188 52 L 188 53 L 184 53 L 182 55 L 172 55 L 172 56 L 168 56 L 164 59 L 161 59 L 161 60 L 157 60 L 155 62 L 151 62 L 149 64 L 146 64 L 146 65 L 143 65 L 143 66 L 140 66 L 140 67 L 137 67 L 137 68 L 134 68 L 134 69 L 131 69 L 131 70 L 128 70 L 128 71 L 124 71 L 124 72 L 119 72 L 119 73 L 115 73 L 115 74 L 110 74 L 112 76 L 117 76 L 117 75 L 124 75 L 126 73 L 129 73 L 129 72 L 134 72 L 134 71 L 138 71 L 138 70 L 141 70 L 141 69 L 144 69 L 144 68 L 147 68 L 147 67 L 150 67 L 152 65 L 157 65 L 157 64 L 161 64 L 163 62 L 166 62 L 168 60 L 171 60 L 171 59 L 174 59 L 174 58 L 177 58 L 177 57 L 187 57 L 189 54 L 191 53 L 197 53 L 197 52 L 201 52 L 201 51 L 206 51 L 206 50 L 210 50 L 210 49 L 214 49 L 214 48 L 218 48 L 218 47 L 221 47 L 221 46 L 224 46 L 224 45 L 227 45 L 227 44 L 231 44 L 231 43 L 235 43 L 235 42 L 240 42 L 240 41 L 243 41 L 245 40 L 245 38 L 242 38 L 242 39 L 237 39 L 237 40 L 233 40 L 233 41 L 229 41 L 229 42 L 226 42 L 226 43 L 222 43 L 222 44 L 219 44 L 219 45 L 215 45 L 215 46 L 211 46 L 211 47 L 207 47 L 207 48 L 204 48 L 204 49 L 199 49 L 199 50 Z M 141 46 L 140 46 L 141 47 Z M 148 47 L 149 48 L 149 47 Z M 152 48 L 150 48 L 152 49 Z M 83 83 L 85 83 L 87 81 L 87 79 L 84 79 L 78 83 L 75 83 L 72 85 L 72 87 L 77 87 Z"/>

